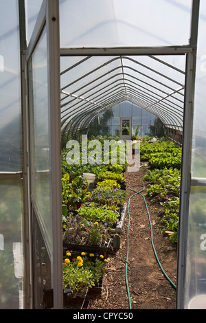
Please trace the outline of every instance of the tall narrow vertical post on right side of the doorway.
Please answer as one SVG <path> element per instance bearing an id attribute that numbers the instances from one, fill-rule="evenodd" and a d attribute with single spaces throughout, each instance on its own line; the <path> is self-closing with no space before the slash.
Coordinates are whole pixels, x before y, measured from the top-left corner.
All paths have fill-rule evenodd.
<path id="1" fill-rule="evenodd" d="M 179 213 L 179 255 L 176 287 L 176 307 L 184 307 L 184 282 L 187 250 L 187 226 L 191 182 L 192 128 L 194 115 L 194 85 L 196 74 L 196 45 L 198 37 L 199 0 L 192 3 L 190 45 L 193 52 L 187 54 L 185 76 L 185 109 L 183 121 L 183 153 L 181 168 L 181 203 Z"/>

